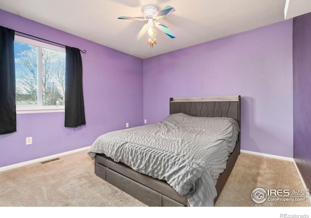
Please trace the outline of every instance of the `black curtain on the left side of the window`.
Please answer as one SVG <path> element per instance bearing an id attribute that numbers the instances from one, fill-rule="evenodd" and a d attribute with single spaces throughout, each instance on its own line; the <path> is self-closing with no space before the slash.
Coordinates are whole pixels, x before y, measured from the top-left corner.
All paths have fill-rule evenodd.
<path id="1" fill-rule="evenodd" d="M 14 34 L 0 26 L 0 134 L 16 132 Z"/>

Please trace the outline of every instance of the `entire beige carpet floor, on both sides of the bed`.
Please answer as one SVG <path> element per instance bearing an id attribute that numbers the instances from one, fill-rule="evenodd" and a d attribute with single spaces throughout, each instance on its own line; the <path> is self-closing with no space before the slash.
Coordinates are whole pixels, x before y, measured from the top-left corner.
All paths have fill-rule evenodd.
<path id="1" fill-rule="evenodd" d="M 294 164 L 242 153 L 215 206 L 311 206 L 251 199 L 254 188 L 302 190 Z M 0 172 L 0 206 L 146 206 L 94 174 L 86 151 Z"/>

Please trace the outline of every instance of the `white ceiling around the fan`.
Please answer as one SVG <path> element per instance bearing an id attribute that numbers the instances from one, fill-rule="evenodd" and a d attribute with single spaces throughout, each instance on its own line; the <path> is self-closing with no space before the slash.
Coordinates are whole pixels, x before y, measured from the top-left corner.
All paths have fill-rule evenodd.
<path id="1" fill-rule="evenodd" d="M 146 35 L 134 39 L 146 21 L 118 19 L 149 3 L 176 9 L 157 20 L 176 38 L 158 31 L 154 52 Z M 144 59 L 309 13 L 311 0 L 0 0 L 0 9 Z"/>

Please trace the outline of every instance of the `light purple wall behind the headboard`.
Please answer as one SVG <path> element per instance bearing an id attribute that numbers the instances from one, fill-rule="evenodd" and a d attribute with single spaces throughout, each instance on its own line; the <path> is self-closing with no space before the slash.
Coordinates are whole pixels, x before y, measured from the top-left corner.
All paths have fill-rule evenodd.
<path id="1" fill-rule="evenodd" d="M 242 149 L 293 157 L 292 33 L 288 20 L 143 60 L 144 119 L 170 97 L 241 95 Z"/>

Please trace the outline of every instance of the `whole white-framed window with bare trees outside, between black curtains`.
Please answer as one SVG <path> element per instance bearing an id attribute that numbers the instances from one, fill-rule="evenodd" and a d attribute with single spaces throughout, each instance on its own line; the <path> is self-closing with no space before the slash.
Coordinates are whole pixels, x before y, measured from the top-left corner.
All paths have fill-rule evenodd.
<path id="1" fill-rule="evenodd" d="M 65 109 L 66 49 L 16 35 L 17 113 Z"/>

